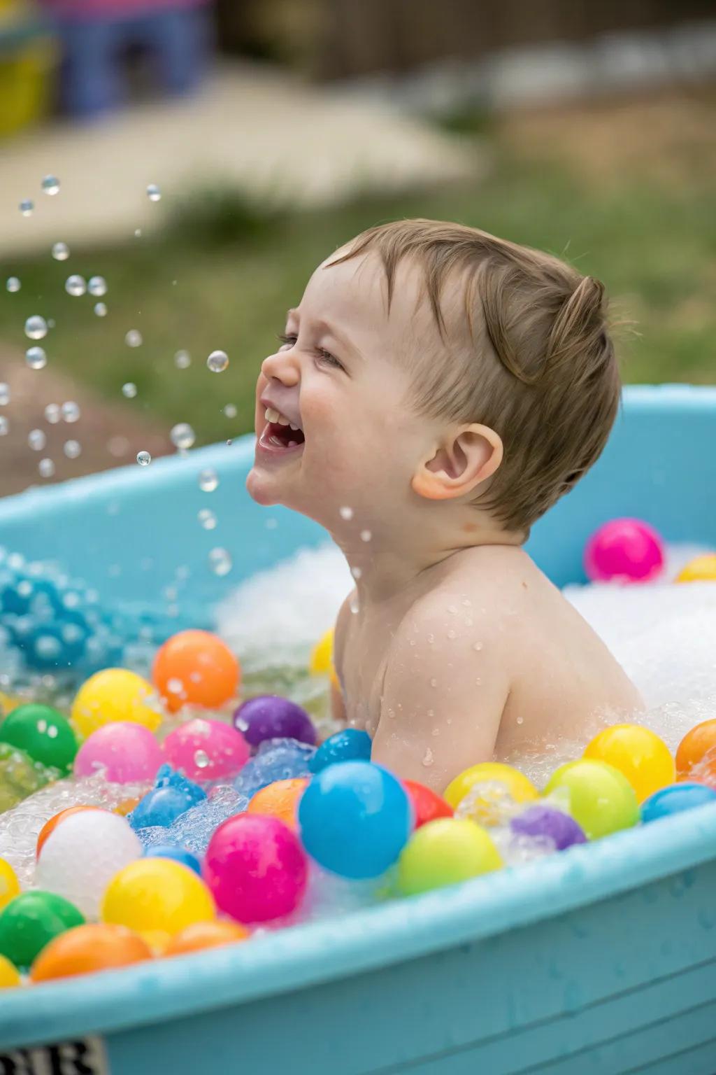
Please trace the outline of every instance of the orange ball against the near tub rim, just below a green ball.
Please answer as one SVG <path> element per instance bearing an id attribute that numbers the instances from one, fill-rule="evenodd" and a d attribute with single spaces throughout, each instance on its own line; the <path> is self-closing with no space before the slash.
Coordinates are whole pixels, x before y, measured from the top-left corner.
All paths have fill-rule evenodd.
<path id="1" fill-rule="evenodd" d="M 151 959 L 142 937 L 123 926 L 76 926 L 42 949 L 30 970 L 31 981 L 70 978 Z"/>

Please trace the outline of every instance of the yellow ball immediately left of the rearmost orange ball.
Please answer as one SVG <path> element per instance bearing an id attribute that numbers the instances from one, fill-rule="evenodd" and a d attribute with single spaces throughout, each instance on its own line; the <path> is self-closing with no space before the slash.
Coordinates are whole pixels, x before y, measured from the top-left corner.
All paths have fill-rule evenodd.
<path id="1" fill-rule="evenodd" d="M 82 685 L 72 705 L 72 719 L 87 739 L 103 725 L 130 720 L 157 731 L 162 717 L 151 707 L 150 683 L 127 669 L 104 669 Z"/>

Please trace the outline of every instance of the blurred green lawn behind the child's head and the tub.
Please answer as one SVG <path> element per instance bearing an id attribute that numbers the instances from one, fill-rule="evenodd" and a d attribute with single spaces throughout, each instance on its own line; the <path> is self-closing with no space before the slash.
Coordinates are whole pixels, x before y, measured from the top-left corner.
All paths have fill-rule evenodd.
<path id="1" fill-rule="evenodd" d="M 601 277 L 617 318 L 635 322 L 620 335 L 625 379 L 716 381 L 716 196 L 706 182 L 670 189 L 632 176 L 585 185 L 556 162 L 515 162 L 497 154 L 493 173 L 463 189 L 362 198 L 340 209 L 264 218 L 225 192 L 196 196 L 159 238 L 113 249 L 15 259 L 3 276 L 20 276 L 16 295 L 0 292 L 0 340 L 24 347 L 25 318 L 56 320 L 49 361 L 107 399 L 121 401 L 133 381 L 159 428 L 191 422 L 198 443 L 251 428 L 253 386 L 276 344 L 289 305 L 333 249 L 369 225 L 427 216 L 477 225 L 569 258 Z M 70 272 L 104 275 L 109 313 L 65 295 Z M 125 344 L 128 329 L 144 344 Z M 638 333 L 638 334 L 637 334 Z M 225 373 L 211 374 L 208 353 L 223 348 Z M 177 370 L 174 353 L 192 356 Z M 221 407 L 234 403 L 238 416 Z"/>

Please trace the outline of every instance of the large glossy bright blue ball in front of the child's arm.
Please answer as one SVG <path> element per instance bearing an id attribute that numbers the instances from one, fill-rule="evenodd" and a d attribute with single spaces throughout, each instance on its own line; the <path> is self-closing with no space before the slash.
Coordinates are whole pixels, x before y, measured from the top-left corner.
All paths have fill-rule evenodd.
<path id="1" fill-rule="evenodd" d="M 304 847 L 341 877 L 379 877 L 396 861 L 412 823 L 400 782 L 369 761 L 321 770 L 298 804 Z"/>

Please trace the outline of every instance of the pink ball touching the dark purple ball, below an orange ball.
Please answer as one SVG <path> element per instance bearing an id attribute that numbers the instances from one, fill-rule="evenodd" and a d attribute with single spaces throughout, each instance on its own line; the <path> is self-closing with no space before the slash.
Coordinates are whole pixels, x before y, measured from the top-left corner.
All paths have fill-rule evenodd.
<path id="1" fill-rule="evenodd" d="M 180 725 L 164 740 L 164 757 L 182 769 L 190 780 L 218 780 L 234 776 L 249 759 L 240 732 L 221 720 L 196 717 Z"/>

